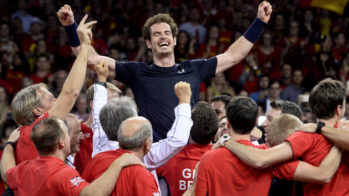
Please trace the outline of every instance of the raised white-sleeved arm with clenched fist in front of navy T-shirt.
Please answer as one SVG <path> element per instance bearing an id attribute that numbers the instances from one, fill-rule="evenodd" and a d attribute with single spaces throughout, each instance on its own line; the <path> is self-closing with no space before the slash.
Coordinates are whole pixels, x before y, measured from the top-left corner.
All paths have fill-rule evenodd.
<path id="1" fill-rule="evenodd" d="M 192 95 L 190 84 L 179 82 L 174 86 L 174 91 L 179 99 L 178 106 L 174 108 L 176 119 L 174 119 L 171 130 L 167 133 L 167 137 L 153 143 L 148 154 L 143 157 L 142 161 L 147 165 L 149 171 L 164 165 L 184 148 L 189 139 L 190 129 L 193 125 L 190 107 Z"/>

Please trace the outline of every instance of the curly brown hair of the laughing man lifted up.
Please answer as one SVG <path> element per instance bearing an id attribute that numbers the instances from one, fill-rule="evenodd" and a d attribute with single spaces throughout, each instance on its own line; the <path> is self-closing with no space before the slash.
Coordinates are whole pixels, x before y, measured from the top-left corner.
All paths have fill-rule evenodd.
<path id="1" fill-rule="evenodd" d="M 174 22 L 174 20 L 171 18 L 168 14 L 157 14 L 153 17 L 148 18 L 146 23 L 144 23 L 143 30 L 142 30 L 142 36 L 144 38 L 144 41 L 151 40 L 150 37 L 150 27 L 153 24 L 165 22 L 170 25 L 172 37 L 176 37 L 178 34 L 178 28 L 177 23 Z"/>

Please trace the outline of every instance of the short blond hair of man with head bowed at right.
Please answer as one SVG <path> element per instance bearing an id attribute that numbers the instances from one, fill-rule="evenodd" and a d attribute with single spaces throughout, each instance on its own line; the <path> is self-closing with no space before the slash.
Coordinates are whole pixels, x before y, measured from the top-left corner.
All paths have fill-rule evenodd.
<path id="1" fill-rule="evenodd" d="M 292 114 L 281 114 L 276 116 L 270 123 L 268 132 L 268 143 L 276 146 L 284 142 L 295 129 L 302 125 L 299 118 Z"/>

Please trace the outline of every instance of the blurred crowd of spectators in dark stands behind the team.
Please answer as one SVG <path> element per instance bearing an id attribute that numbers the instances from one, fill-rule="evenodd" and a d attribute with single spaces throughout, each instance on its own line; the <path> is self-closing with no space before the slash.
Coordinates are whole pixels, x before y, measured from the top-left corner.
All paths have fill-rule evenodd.
<path id="1" fill-rule="evenodd" d="M 349 86 L 348 6 L 338 13 L 304 1 L 270 2 L 273 14 L 251 52 L 238 65 L 203 82 L 200 100 L 222 94 L 249 96 L 259 104 L 261 116 L 271 101 L 289 100 L 302 107 L 303 122 L 315 122 L 307 104 L 310 89 L 325 77 Z M 224 53 L 253 22 L 260 1 L 0 0 L 0 130 L 4 141 L 18 126 L 9 110 L 14 93 L 44 82 L 57 98 L 73 65 L 75 56 L 57 17 L 64 4 L 72 7 L 77 23 L 85 14 L 88 20 L 98 21 L 91 43 L 99 54 L 151 64 L 152 54 L 141 36 L 148 17 L 168 13 L 177 22 L 174 56 L 180 63 Z M 84 92 L 95 80 L 95 73 L 88 70 L 72 111 L 83 121 L 88 118 Z M 112 83 L 124 95 L 133 96 L 124 84 Z"/>

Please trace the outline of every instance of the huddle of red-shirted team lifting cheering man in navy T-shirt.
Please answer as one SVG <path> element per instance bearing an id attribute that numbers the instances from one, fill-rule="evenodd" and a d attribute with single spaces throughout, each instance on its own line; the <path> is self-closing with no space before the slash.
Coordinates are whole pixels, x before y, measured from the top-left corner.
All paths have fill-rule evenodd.
<path id="1" fill-rule="evenodd" d="M 210 59 L 174 62 L 177 24 L 148 18 L 144 42 L 154 63 L 120 62 L 96 53 L 91 28 L 72 9 L 57 12 L 76 55 L 56 98 L 46 84 L 16 93 L 11 108 L 21 125 L 4 144 L 0 163 L 14 195 L 349 195 L 346 89 L 327 78 L 310 92 L 318 123 L 304 124 L 290 101 L 272 101 L 256 128 L 258 105 L 248 97 L 199 101 L 202 81 L 239 63 L 272 13 L 259 5 L 250 28 Z M 70 114 L 86 69 L 98 81 L 86 92 L 89 119 Z M 135 102 L 107 78 L 132 89 Z M 216 108 L 219 105 L 220 108 Z M 219 110 L 219 112 L 217 112 Z"/>

